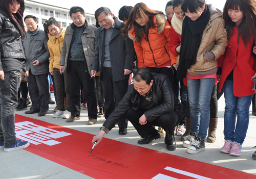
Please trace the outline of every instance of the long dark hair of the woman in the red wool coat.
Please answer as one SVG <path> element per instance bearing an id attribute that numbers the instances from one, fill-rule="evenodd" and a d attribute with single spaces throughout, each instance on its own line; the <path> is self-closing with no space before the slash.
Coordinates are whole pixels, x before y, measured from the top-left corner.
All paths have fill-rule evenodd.
<path id="1" fill-rule="evenodd" d="M 250 35 L 256 40 L 256 3 L 255 0 L 227 0 L 223 8 L 223 18 L 225 20 L 225 26 L 227 30 L 228 40 L 231 37 L 232 29 L 235 22 L 231 20 L 228 15 L 228 9 L 234 9 L 243 12 L 243 20 L 238 27 L 238 37 L 241 35 L 244 45 L 247 42 L 251 42 Z M 239 42 L 239 38 L 238 38 Z"/>

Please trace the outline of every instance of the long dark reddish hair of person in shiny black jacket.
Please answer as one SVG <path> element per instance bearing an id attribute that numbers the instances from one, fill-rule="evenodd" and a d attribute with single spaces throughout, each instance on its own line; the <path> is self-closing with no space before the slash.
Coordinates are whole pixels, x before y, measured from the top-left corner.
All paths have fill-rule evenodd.
<path id="1" fill-rule="evenodd" d="M 18 3 L 20 3 L 20 7 L 16 14 L 12 14 L 9 11 L 9 4 L 12 6 L 16 6 L 15 2 L 13 0 L 0 0 L 0 6 L 3 11 L 5 11 L 11 18 L 11 21 L 13 24 L 18 28 L 18 31 L 20 35 L 23 37 L 25 36 L 25 28 L 23 23 L 23 13 L 25 10 L 25 3 L 24 0 L 16 0 Z"/>

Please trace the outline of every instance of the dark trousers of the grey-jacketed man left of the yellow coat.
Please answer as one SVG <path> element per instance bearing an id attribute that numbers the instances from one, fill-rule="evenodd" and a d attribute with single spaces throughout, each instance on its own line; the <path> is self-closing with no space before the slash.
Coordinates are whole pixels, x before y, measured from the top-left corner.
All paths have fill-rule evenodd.
<path id="1" fill-rule="evenodd" d="M 31 110 L 47 111 L 49 109 L 49 85 L 48 73 L 34 75 L 29 70 L 28 88 L 32 101 Z"/>

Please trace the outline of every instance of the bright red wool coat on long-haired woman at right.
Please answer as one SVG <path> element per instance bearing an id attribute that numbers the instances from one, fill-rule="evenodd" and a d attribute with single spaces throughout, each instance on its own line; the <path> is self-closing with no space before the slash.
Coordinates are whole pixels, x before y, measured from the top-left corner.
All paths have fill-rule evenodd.
<path id="1" fill-rule="evenodd" d="M 233 28 L 226 52 L 218 59 L 218 67 L 222 67 L 219 91 L 233 69 L 234 96 L 242 97 L 255 93 L 253 89 L 254 83 L 251 81 L 256 72 L 256 58 L 252 54 L 255 40 L 252 35 L 250 37 L 251 42 L 247 41 L 246 46 L 241 36 L 238 43 L 238 27 Z"/>

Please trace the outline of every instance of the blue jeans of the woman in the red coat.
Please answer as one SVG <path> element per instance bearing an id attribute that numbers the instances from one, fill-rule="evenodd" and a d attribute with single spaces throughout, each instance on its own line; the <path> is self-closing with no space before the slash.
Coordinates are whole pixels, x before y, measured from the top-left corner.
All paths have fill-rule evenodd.
<path id="1" fill-rule="evenodd" d="M 243 144 L 249 125 L 249 108 L 253 94 L 243 97 L 234 96 L 232 80 L 226 80 L 223 89 L 226 103 L 224 113 L 224 139 Z M 238 116 L 237 124 L 236 116 Z"/>

